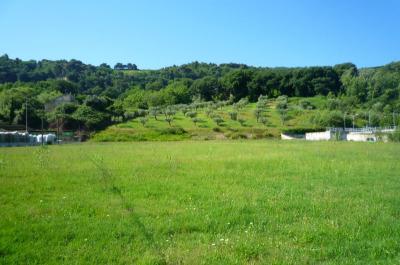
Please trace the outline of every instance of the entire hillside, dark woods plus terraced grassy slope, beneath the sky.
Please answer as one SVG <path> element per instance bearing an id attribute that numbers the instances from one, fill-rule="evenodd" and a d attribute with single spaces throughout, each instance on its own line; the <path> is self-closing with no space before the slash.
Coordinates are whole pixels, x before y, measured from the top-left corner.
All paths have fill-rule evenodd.
<path id="1" fill-rule="evenodd" d="M 68 94 L 73 101 L 45 111 L 47 103 Z M 256 123 L 253 114 L 260 96 L 269 100 L 263 113 L 265 124 Z M 288 108 L 284 111 L 287 121 L 282 123 L 273 110 L 275 101 L 284 96 Z M 53 130 L 57 124 L 60 130 L 85 130 L 88 134 L 106 129 L 95 134 L 96 140 L 276 137 L 286 127 L 339 126 L 343 117 L 351 116 L 363 119 L 360 125 L 365 125 L 366 119 L 371 126 L 393 125 L 398 124 L 399 96 L 399 62 L 361 69 L 352 63 L 269 68 L 193 62 L 140 70 L 131 63 L 111 68 L 78 60 L 22 61 L 0 56 L 0 124 L 25 125 L 27 118 L 28 127 L 36 130 L 42 120 L 45 128 Z M 299 108 L 302 99 L 314 102 L 312 109 Z M 240 111 L 245 123 L 239 126 L 228 116 L 233 104 L 241 100 L 250 105 Z M 201 120 L 198 126 L 179 109 L 193 111 L 196 104 L 205 104 L 197 113 Z M 214 114 L 223 122 L 215 129 L 205 111 L 219 104 L 223 104 L 222 109 L 218 107 Z M 138 123 L 154 109 L 176 112 L 171 126 L 151 118 L 147 118 L 147 127 Z M 175 129 L 169 127 L 181 128 L 179 135 L 171 136 Z"/>

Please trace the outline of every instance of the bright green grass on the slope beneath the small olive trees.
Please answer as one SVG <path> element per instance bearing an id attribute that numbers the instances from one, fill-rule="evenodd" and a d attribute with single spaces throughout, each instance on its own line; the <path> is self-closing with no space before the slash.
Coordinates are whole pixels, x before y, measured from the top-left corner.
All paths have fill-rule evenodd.
<path id="1" fill-rule="evenodd" d="M 192 120 L 178 111 L 174 115 L 172 127 L 182 128 L 185 133 L 176 135 L 162 133 L 170 128 L 165 121 L 163 114 L 158 115 L 157 120 L 148 116 L 148 122 L 143 126 L 138 119 L 134 119 L 125 123 L 110 126 L 104 131 L 95 134 L 93 141 L 97 142 L 114 142 L 114 141 L 176 141 L 176 140 L 215 140 L 215 139 L 260 139 L 260 138 L 280 138 L 280 133 L 287 128 L 311 128 L 315 127 L 311 121 L 311 115 L 318 110 L 302 110 L 298 107 L 299 98 L 290 99 L 290 108 L 288 111 L 289 120 L 282 124 L 279 114 L 275 109 L 275 101 L 270 100 L 268 108 L 263 116 L 267 118 L 267 124 L 264 125 L 256 121 L 254 116 L 255 103 L 248 104 L 244 109 L 239 111 L 238 119 L 245 120 L 241 125 L 238 121 L 230 119 L 229 112 L 232 106 L 226 106 L 214 111 L 214 114 L 222 117 L 224 122 L 217 125 L 213 119 L 208 117 L 205 109 L 197 111 L 198 118 L 201 122 L 194 124 Z M 322 105 L 325 98 L 310 98 L 316 106 Z M 215 128 L 218 128 L 217 130 Z"/>

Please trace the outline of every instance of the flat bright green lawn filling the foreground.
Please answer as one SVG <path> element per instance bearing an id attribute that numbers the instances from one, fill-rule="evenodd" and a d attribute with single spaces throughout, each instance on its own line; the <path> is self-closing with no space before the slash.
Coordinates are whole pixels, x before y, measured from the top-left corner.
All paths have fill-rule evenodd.
<path id="1" fill-rule="evenodd" d="M 400 145 L 0 149 L 1 264 L 399 264 Z"/>

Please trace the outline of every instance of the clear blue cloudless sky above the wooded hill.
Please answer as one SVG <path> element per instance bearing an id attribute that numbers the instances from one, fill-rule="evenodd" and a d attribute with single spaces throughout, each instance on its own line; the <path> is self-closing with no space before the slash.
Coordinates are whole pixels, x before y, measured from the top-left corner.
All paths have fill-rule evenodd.
<path id="1" fill-rule="evenodd" d="M 398 0 L 1 0 L 0 54 L 154 69 L 400 60 Z"/>

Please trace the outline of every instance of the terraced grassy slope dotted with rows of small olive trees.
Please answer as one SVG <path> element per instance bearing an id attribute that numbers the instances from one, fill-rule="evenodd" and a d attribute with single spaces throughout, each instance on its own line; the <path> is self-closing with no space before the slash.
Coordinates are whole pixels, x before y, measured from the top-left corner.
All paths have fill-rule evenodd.
<path id="1" fill-rule="evenodd" d="M 267 99 L 263 108 L 260 108 L 259 103 L 248 103 L 239 110 L 235 108 L 235 104 L 221 107 L 214 105 L 211 108 L 206 105 L 197 110 L 187 105 L 175 106 L 173 115 L 170 115 L 171 124 L 166 121 L 169 115 L 166 116 L 163 111 L 159 111 L 156 117 L 151 113 L 144 113 L 143 116 L 108 127 L 95 134 L 93 140 L 107 142 L 279 138 L 282 131 L 343 125 L 343 117 L 335 116 L 331 120 L 327 118 L 328 123 L 322 125 L 316 120 L 316 117 L 326 112 L 324 108 L 329 99 L 325 97 L 289 98 L 284 116 L 277 108 L 280 100 Z M 308 104 L 306 107 L 304 102 Z M 257 109 L 261 110 L 258 121 Z M 235 112 L 237 117 L 232 119 L 232 113 Z M 196 113 L 195 118 L 189 117 L 193 113 Z M 215 117 L 221 118 L 221 121 Z M 346 125 L 352 126 L 352 117 L 344 118 Z M 367 120 L 357 116 L 354 122 L 356 126 L 364 126 Z"/>

